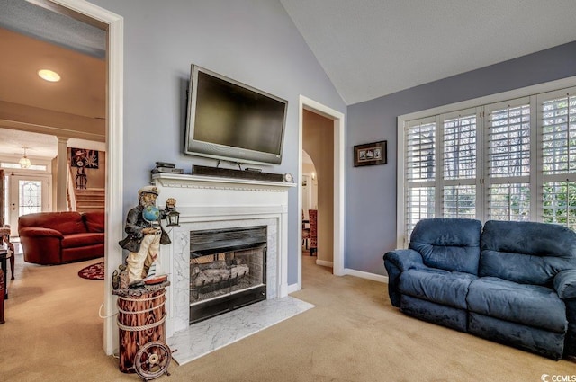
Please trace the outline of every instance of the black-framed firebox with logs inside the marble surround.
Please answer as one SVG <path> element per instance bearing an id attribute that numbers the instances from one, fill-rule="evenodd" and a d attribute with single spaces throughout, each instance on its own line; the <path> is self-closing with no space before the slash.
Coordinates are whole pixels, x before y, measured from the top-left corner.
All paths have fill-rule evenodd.
<path id="1" fill-rule="evenodd" d="M 266 299 L 266 226 L 190 232 L 190 324 Z"/>

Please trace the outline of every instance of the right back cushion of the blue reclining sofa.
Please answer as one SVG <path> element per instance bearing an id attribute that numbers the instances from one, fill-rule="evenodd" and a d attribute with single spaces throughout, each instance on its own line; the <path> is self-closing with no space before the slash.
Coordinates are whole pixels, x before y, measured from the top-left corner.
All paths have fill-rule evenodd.
<path id="1" fill-rule="evenodd" d="M 555 224 L 489 220 L 481 249 L 480 276 L 549 286 L 556 273 L 576 268 L 576 233 Z"/>

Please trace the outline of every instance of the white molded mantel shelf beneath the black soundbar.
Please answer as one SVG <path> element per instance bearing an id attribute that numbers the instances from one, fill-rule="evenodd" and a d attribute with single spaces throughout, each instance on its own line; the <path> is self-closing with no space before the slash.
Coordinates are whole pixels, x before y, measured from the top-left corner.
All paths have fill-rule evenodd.
<path id="1" fill-rule="evenodd" d="M 296 183 L 267 182 L 253 179 L 222 178 L 216 176 L 191 175 L 183 173 L 153 173 L 152 182 L 165 187 L 205 187 L 205 188 L 257 188 L 260 190 L 284 191 L 296 187 Z"/>

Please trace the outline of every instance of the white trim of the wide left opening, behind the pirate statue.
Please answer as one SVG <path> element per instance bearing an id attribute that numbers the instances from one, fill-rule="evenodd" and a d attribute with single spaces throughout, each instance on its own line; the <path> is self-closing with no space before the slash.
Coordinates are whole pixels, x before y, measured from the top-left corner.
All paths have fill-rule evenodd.
<path id="1" fill-rule="evenodd" d="M 118 242 L 122 235 L 122 158 L 123 158 L 123 59 L 124 19 L 85 0 L 50 0 L 77 13 L 84 14 L 108 26 L 108 94 L 106 99 L 106 241 L 104 261 L 106 263 L 102 315 L 104 321 L 103 348 L 112 355 L 118 348 L 118 329 L 114 319 L 112 297 L 112 271 L 122 261 Z"/>

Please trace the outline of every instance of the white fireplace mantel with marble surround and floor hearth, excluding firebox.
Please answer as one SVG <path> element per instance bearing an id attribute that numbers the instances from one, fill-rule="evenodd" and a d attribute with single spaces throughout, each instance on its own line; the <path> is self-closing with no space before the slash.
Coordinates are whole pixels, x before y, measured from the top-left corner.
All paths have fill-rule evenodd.
<path id="1" fill-rule="evenodd" d="M 175 198 L 180 212 L 180 226 L 166 227 L 172 244 L 160 246 L 161 268 L 171 282 L 167 288 L 166 338 L 171 348 L 178 347 L 174 354 L 178 363 L 193 360 L 312 307 L 288 297 L 288 190 L 296 184 L 171 173 L 154 174 L 152 183 L 160 191 L 157 206 L 162 208 L 167 198 Z M 266 300 L 190 325 L 190 232 L 256 226 L 266 226 Z M 274 316 L 266 316 L 266 312 Z M 257 319 L 262 324 L 257 324 L 252 332 L 235 334 L 241 337 L 221 334 L 231 324 L 238 327 L 249 321 L 254 326 Z M 208 328 L 210 338 L 206 338 Z M 226 338 L 214 338 L 212 333 Z M 199 336 L 205 344 L 198 342 Z M 193 346 L 187 343 L 192 341 Z"/>

